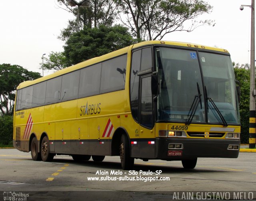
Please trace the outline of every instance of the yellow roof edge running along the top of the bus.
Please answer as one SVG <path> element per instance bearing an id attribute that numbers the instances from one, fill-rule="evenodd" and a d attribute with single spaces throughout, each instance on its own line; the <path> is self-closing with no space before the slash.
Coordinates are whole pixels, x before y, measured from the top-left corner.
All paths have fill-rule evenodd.
<path id="1" fill-rule="evenodd" d="M 119 56 L 119 55 L 122 55 L 122 54 L 126 54 L 130 47 L 132 49 L 135 49 L 135 48 L 139 48 L 139 47 L 142 47 L 142 46 L 154 45 L 154 44 L 171 45 L 171 46 L 183 46 L 183 47 L 189 47 L 189 48 L 198 48 L 198 49 L 203 49 L 203 50 L 214 50 L 214 51 L 218 51 L 218 52 L 228 53 L 228 51 L 224 50 L 224 49 L 213 48 L 213 47 L 209 47 L 209 46 L 202 46 L 202 45 L 199 45 L 199 44 L 193 44 L 193 43 L 187 43 L 187 42 L 172 42 L 172 41 L 160 41 L 160 40 L 145 41 L 145 42 L 140 42 L 140 43 L 128 46 L 126 48 L 122 48 L 120 50 L 116 50 L 114 52 L 110 52 L 110 53 L 105 54 L 103 56 L 99 56 L 99 57 L 95 57 L 95 58 L 86 60 L 84 62 L 75 64 L 74 66 L 70 66 L 68 68 L 64 68 L 62 70 L 54 72 L 53 74 L 50 74 L 48 76 L 44 76 L 42 78 L 38 78 L 36 80 L 32 80 L 32 81 L 29 81 L 29 82 L 27 82 L 27 81 L 22 82 L 17 87 L 17 89 L 25 88 L 27 86 L 31 86 L 33 84 L 40 83 L 40 82 L 43 82 L 45 80 L 50 80 L 52 78 L 67 74 L 69 72 L 79 70 L 79 69 L 84 68 L 86 66 L 91 66 L 93 64 L 102 62 L 104 60 L 108 60 L 110 58 L 113 58 L 113 57 L 116 57 L 116 56 Z"/>

